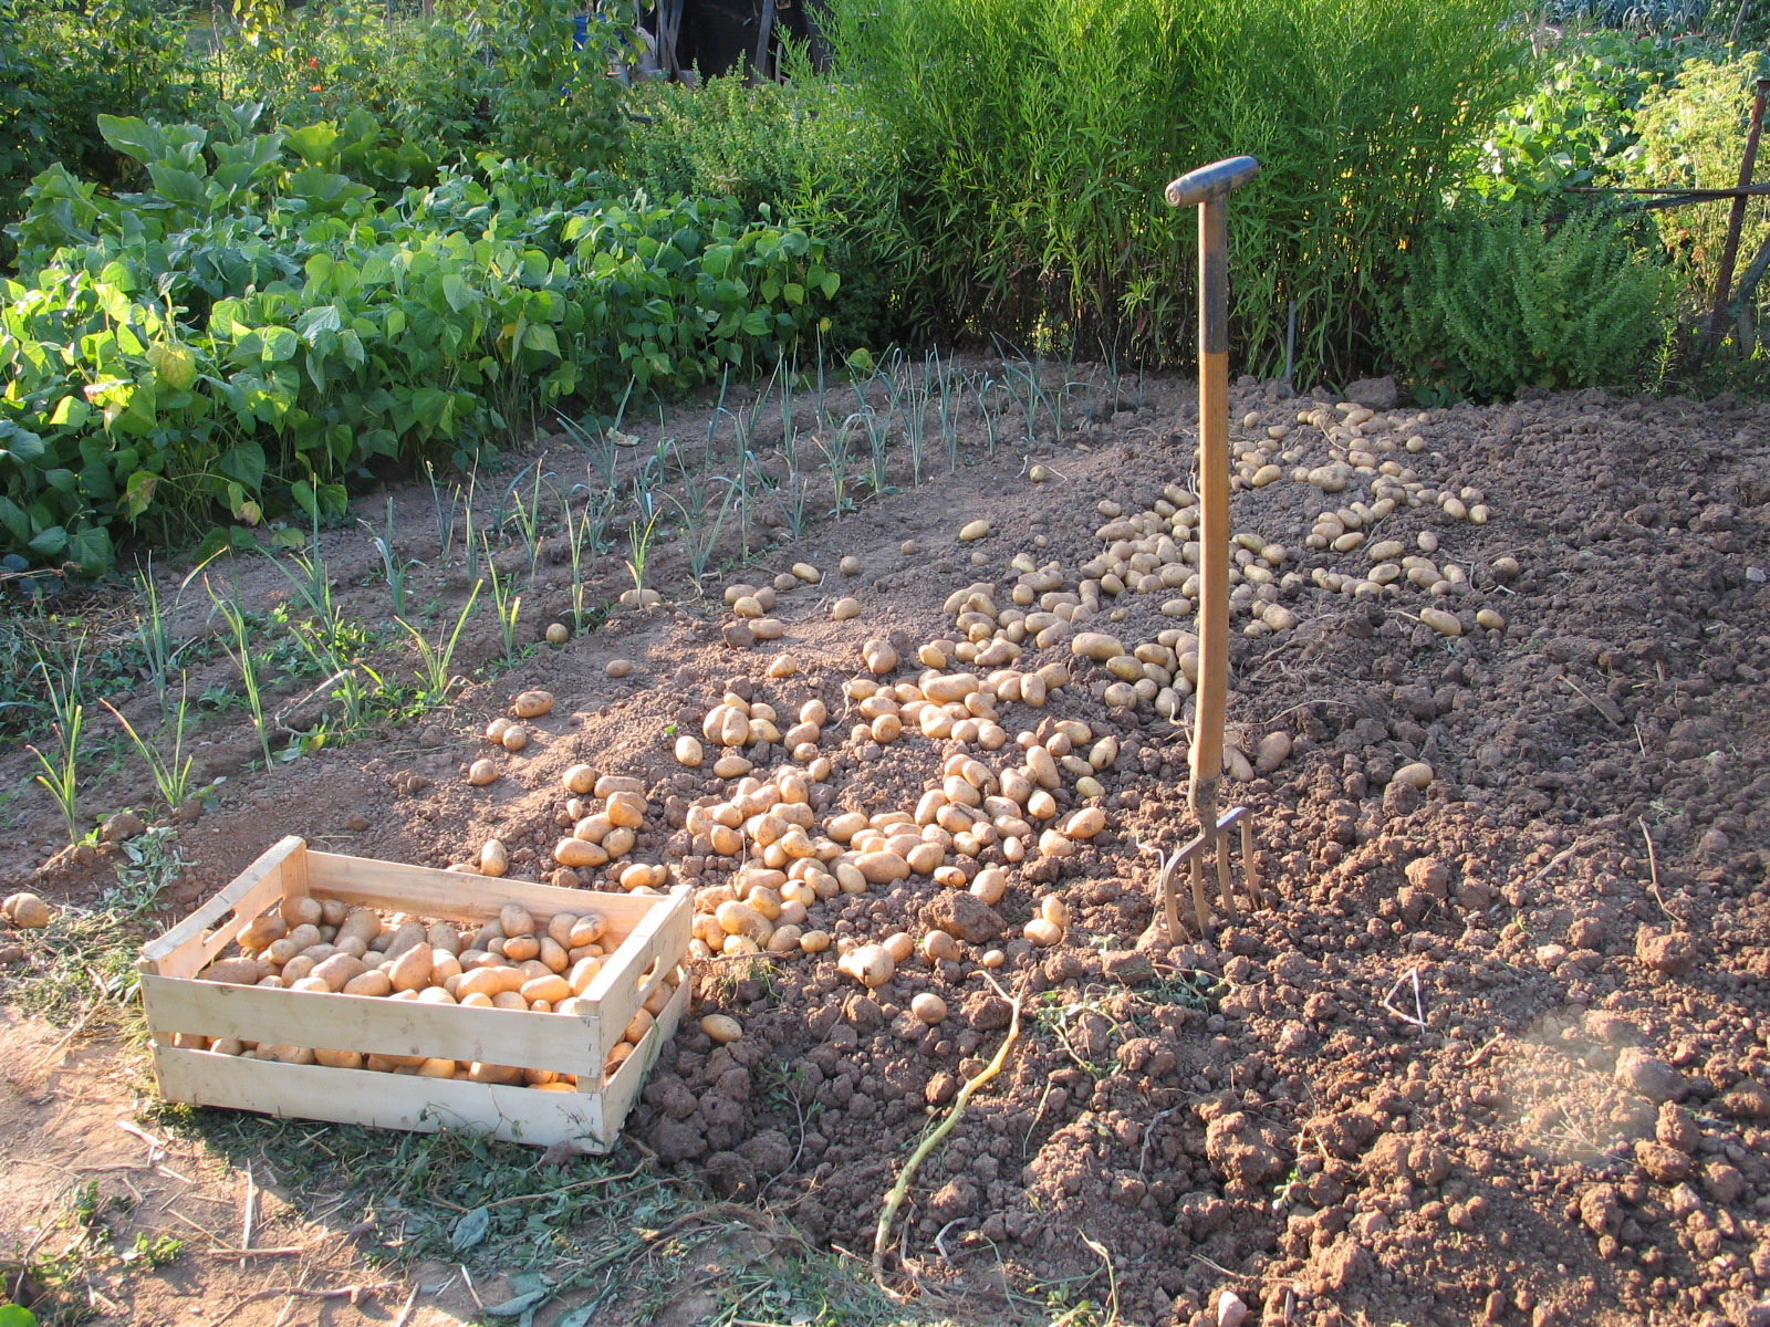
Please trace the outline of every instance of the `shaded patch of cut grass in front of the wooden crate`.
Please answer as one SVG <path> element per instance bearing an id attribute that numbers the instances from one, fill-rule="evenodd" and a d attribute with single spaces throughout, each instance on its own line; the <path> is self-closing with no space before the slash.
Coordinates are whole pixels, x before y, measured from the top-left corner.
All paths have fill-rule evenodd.
<path id="1" fill-rule="evenodd" d="M 494 1320 L 524 1322 L 566 1297 L 561 1323 L 588 1323 L 616 1300 L 634 1322 L 706 1290 L 701 1322 L 756 1320 L 883 1325 L 901 1320 L 850 1260 L 805 1246 L 768 1212 L 710 1201 L 697 1184 L 657 1175 L 632 1154 L 573 1155 L 561 1164 L 520 1143 L 458 1132 L 404 1134 L 163 1106 L 163 1125 L 335 1226 L 366 1226 L 379 1256 L 460 1267 Z M 713 1244 L 717 1258 L 701 1254 Z M 726 1270 L 704 1276 L 704 1263 Z M 499 1297 L 487 1293 L 503 1277 Z M 508 1295 L 508 1297 L 506 1297 Z"/>

